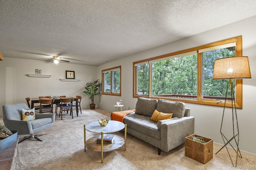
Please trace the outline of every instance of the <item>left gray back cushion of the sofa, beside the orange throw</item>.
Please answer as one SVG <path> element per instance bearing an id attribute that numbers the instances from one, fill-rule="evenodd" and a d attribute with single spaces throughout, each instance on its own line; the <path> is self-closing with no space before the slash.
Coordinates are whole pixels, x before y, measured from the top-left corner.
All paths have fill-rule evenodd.
<path id="1" fill-rule="evenodd" d="M 156 99 L 148 99 L 144 97 L 138 97 L 138 101 L 135 107 L 135 113 L 151 117 L 156 110 Z"/>

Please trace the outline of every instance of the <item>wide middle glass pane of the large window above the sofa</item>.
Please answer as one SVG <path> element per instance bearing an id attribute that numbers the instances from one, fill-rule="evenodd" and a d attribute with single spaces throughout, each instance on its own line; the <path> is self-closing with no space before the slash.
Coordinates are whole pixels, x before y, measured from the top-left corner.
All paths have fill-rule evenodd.
<path id="1" fill-rule="evenodd" d="M 152 96 L 197 98 L 196 51 L 151 63 Z"/>

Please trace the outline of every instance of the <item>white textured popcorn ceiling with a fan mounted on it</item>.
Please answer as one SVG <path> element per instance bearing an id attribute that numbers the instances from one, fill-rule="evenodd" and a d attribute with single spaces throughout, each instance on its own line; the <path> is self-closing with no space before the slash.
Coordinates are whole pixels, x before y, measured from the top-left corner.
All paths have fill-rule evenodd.
<path id="1" fill-rule="evenodd" d="M 0 52 L 98 66 L 252 16 L 255 0 L 0 0 Z"/>

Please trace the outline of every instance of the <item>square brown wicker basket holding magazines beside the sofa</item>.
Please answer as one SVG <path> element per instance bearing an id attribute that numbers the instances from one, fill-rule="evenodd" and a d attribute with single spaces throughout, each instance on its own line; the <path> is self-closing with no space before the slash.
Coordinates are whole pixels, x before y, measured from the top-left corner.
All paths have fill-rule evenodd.
<path id="1" fill-rule="evenodd" d="M 192 136 L 203 138 L 206 143 L 196 142 Z M 188 156 L 202 164 L 206 164 L 213 157 L 213 140 L 196 134 L 185 138 L 185 156 Z"/>

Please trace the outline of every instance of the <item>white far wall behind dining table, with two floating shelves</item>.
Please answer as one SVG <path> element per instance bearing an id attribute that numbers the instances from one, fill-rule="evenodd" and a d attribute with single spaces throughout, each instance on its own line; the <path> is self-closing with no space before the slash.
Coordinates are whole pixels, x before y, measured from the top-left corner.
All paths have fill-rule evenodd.
<path id="1" fill-rule="evenodd" d="M 35 69 L 41 69 L 43 75 L 51 75 L 50 78 L 28 77 L 27 74 L 35 74 Z M 75 79 L 78 82 L 64 82 L 67 71 L 75 71 Z M 81 107 L 90 108 L 89 96 L 84 94 L 87 82 L 96 80 L 97 69 L 95 66 L 59 63 L 55 65 L 47 61 L 31 59 L 16 59 L 4 57 L 0 61 L 0 106 L 26 103 L 25 98 L 39 96 L 82 96 Z M 96 97 L 96 103 L 99 97 Z M 0 109 L 0 117 L 2 109 Z"/>

